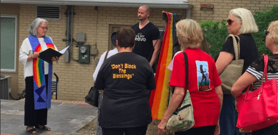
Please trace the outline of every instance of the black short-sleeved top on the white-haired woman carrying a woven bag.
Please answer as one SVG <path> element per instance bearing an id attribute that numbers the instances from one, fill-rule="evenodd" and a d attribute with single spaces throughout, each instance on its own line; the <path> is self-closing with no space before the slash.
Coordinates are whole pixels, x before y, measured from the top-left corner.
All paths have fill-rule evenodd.
<path id="1" fill-rule="evenodd" d="M 259 52 L 251 34 L 241 34 L 238 35 L 238 37 L 240 39 L 239 59 L 244 60 L 243 69 L 242 69 L 242 74 L 243 74 L 246 71 L 246 69 L 259 57 Z M 221 52 L 228 52 L 235 56 L 232 37 L 229 37 L 227 41 L 224 43 Z M 215 62 L 218 56 L 219 54 L 215 56 L 214 58 Z M 235 57 L 233 60 L 235 60 Z"/>

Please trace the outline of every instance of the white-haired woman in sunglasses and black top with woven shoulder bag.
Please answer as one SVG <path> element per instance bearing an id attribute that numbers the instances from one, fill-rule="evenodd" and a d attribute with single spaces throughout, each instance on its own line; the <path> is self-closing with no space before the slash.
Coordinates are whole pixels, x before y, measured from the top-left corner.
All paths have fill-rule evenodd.
<path id="1" fill-rule="evenodd" d="M 258 32 L 258 26 L 252 13 L 245 8 L 230 10 L 226 26 L 228 27 L 229 34 L 237 35 L 240 38 L 239 59 L 244 60 L 242 70 L 242 73 L 244 73 L 248 66 L 259 57 L 256 43 L 250 34 Z M 219 56 L 216 55 L 214 60 L 219 75 L 232 60 L 235 60 L 232 37 L 226 40 Z M 235 110 L 235 99 L 231 94 L 223 94 L 223 108 L 220 113 L 219 121 L 220 135 L 244 135 L 244 133 L 239 133 L 239 130 L 236 128 L 238 113 Z"/>

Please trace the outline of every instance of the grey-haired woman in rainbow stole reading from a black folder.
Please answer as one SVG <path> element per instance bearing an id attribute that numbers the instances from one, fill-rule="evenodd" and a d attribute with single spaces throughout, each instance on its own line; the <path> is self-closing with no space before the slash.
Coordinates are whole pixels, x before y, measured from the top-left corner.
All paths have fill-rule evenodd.
<path id="1" fill-rule="evenodd" d="M 58 51 L 50 37 L 47 36 L 48 22 L 36 18 L 30 25 L 26 38 L 20 48 L 19 61 L 24 65 L 25 106 L 24 125 L 29 133 L 37 133 L 36 129 L 50 131 L 46 127 L 47 111 L 51 107 L 51 85 L 53 65 L 39 59 L 40 52 L 52 48 Z M 53 57 L 52 61 L 58 61 Z M 50 80 L 50 81 L 49 81 Z M 34 127 L 36 129 L 34 129 Z"/>

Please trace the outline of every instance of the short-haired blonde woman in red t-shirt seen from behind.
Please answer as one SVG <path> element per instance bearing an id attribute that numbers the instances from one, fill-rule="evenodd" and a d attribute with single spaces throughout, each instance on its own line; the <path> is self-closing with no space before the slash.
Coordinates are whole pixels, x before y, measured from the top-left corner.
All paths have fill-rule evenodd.
<path id="1" fill-rule="evenodd" d="M 177 37 L 181 49 L 188 56 L 189 92 L 191 95 L 195 125 L 188 131 L 178 131 L 175 135 L 218 135 L 219 114 L 222 105 L 221 80 L 217 73 L 213 59 L 201 49 L 203 41 L 202 28 L 196 21 L 185 19 L 177 22 Z M 203 76 L 201 69 L 206 71 L 207 81 L 202 83 L 198 79 Z M 158 132 L 166 132 L 166 124 L 178 108 L 186 92 L 185 61 L 183 53 L 178 53 L 174 58 L 170 86 L 175 87 L 170 104 L 163 115 Z M 208 111 L 209 110 L 209 111 Z"/>

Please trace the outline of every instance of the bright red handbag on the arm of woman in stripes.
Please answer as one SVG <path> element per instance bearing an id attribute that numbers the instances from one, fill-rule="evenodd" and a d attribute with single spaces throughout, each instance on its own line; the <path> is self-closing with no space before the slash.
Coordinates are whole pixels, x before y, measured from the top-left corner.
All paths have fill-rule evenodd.
<path id="1" fill-rule="evenodd" d="M 260 88 L 248 90 L 238 97 L 238 119 L 236 127 L 243 131 L 257 131 L 278 121 L 278 88 L 277 79 L 268 80 L 267 65 L 268 56 L 265 59 L 265 69 Z M 265 83 L 263 78 L 265 76 Z"/>

